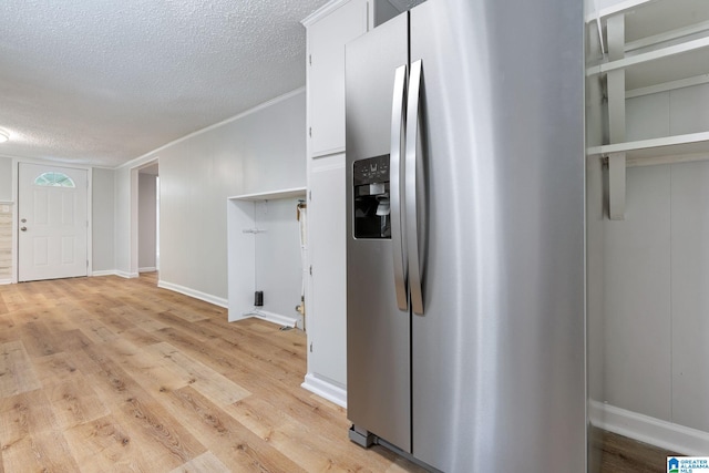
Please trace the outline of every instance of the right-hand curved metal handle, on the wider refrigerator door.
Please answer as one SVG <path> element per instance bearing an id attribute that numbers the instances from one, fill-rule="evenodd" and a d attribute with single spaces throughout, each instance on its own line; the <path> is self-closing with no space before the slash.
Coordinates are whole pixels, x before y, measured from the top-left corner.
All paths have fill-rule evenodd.
<path id="1" fill-rule="evenodd" d="M 411 309 L 414 313 L 423 315 L 423 287 L 422 287 L 422 257 L 420 253 L 419 225 L 423 224 L 419 215 L 419 205 L 423 202 L 423 196 L 419 179 L 423 163 L 421 155 L 421 136 L 419 131 L 422 117 L 420 116 L 421 85 L 422 85 L 422 61 L 411 63 L 411 74 L 409 76 L 409 103 L 407 105 L 407 148 L 405 148 L 405 236 L 407 253 L 409 256 L 409 287 L 411 290 Z M 421 200 L 421 202 L 419 202 Z"/>

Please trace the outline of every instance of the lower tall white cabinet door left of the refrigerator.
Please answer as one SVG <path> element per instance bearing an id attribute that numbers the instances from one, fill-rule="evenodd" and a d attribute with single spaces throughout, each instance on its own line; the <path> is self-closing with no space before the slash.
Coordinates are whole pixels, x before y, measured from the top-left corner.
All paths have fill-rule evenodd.
<path id="1" fill-rule="evenodd" d="M 307 320 L 308 371 L 347 383 L 345 156 L 310 174 L 308 251 L 312 269 Z"/>

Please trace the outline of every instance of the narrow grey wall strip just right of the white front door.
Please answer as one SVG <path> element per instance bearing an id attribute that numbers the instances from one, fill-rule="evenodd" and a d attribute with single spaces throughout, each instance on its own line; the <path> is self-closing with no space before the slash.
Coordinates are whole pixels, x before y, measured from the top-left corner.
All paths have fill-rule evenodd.
<path id="1" fill-rule="evenodd" d="M 113 169 L 92 171 L 92 256 L 94 273 L 115 269 L 114 240 L 114 174 Z"/>

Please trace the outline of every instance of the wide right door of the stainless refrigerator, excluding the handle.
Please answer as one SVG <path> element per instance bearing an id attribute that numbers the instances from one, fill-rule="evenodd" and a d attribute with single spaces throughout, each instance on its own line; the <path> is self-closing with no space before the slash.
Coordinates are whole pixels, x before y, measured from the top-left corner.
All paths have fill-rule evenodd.
<path id="1" fill-rule="evenodd" d="M 585 463 L 582 2 L 429 0 L 428 225 L 413 454 L 445 472 Z"/>

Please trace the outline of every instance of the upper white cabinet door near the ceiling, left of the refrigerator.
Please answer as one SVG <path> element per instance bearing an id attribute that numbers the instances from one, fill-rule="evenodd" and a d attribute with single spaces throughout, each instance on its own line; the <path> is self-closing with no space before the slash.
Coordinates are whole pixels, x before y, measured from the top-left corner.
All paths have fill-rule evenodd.
<path id="1" fill-rule="evenodd" d="M 311 156 L 345 150 L 345 44 L 367 23 L 367 0 L 351 0 L 308 28 Z"/>

